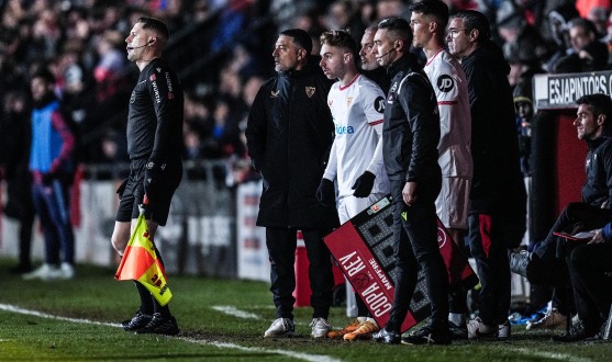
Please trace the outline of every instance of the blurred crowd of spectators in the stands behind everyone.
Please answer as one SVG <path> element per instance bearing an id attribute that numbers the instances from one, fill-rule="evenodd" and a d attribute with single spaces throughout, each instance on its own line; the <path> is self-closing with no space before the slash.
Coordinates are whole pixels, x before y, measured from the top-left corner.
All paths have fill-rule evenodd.
<path id="1" fill-rule="evenodd" d="M 198 64 L 196 72 L 181 79 L 187 91 L 185 159 L 241 158 L 245 151 L 241 139 L 245 115 L 259 86 L 271 75 L 270 57 L 265 56 L 271 54 L 270 34 L 304 29 L 313 38 L 312 53 L 318 54 L 318 36 L 323 30 L 348 29 L 360 41 L 367 26 L 385 18 L 409 19 L 410 2 L 2 1 L 3 123 L 27 117 L 32 109 L 29 78 L 40 67 L 47 67 L 56 78 L 55 93 L 62 99 L 63 112 L 76 127 L 79 161 L 125 161 L 125 99 L 135 72 L 124 56 L 123 41 L 130 24 L 149 14 L 164 20 L 173 34 L 178 33 L 174 36 L 180 37 L 175 42 L 178 48 L 192 44 L 200 47 L 187 54 L 181 64 L 191 66 L 189 61 L 197 63 L 197 57 L 211 55 L 207 58 L 210 61 Z M 609 67 L 611 37 L 605 7 L 581 8 L 582 16 L 590 20 L 586 21 L 580 20 L 574 1 L 446 2 L 450 13 L 471 9 L 487 14 L 493 41 L 503 46 L 511 65 L 511 86 L 537 72 Z M 202 29 L 207 35 L 200 34 Z M 181 42 L 185 37 L 199 42 Z M 183 49 L 176 53 L 186 54 Z M 171 54 L 168 57 L 171 61 Z"/>

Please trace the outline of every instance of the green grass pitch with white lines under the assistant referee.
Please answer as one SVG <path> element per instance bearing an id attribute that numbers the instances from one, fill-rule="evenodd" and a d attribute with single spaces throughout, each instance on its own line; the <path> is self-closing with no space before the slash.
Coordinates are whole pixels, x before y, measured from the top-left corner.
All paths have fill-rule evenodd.
<path id="1" fill-rule="evenodd" d="M 138 297 L 114 269 L 78 265 L 75 281 L 22 281 L 0 259 L 0 304 L 74 319 L 119 324 L 132 317 Z M 168 275 L 178 338 L 135 336 L 121 328 L 45 318 L 0 309 L 0 361 L 612 361 L 612 343 L 556 344 L 553 332 L 514 326 L 510 341 L 461 341 L 448 347 L 382 346 L 310 338 L 311 308 L 296 309 L 293 339 L 264 339 L 274 320 L 267 283 Z M 243 317 L 223 310 L 244 312 Z M 344 308 L 330 323 L 344 327 Z"/>

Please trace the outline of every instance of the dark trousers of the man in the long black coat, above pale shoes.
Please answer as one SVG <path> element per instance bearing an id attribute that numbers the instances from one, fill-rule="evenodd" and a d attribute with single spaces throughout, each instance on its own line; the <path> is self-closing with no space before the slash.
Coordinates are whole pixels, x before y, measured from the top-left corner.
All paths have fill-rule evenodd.
<path id="1" fill-rule="evenodd" d="M 332 289 L 334 274 L 332 271 L 332 254 L 323 237 L 332 231 L 330 228 L 301 229 L 307 248 L 310 289 L 312 295 L 310 304 L 313 318 L 325 318 L 332 306 Z M 296 298 L 296 248 L 297 231 L 294 228 L 266 228 L 266 245 L 270 256 L 270 292 L 274 295 L 277 318 L 293 319 L 293 304 Z"/>

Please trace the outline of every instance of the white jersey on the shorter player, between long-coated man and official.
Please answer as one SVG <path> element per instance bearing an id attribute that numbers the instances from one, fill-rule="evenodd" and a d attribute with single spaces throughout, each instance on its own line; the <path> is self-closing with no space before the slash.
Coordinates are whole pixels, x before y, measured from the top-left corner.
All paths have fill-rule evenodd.
<path id="1" fill-rule="evenodd" d="M 355 180 L 365 171 L 376 174 L 371 193 L 390 191 L 382 161 L 382 113 L 385 93 L 374 81 L 357 75 L 341 87 L 335 82 L 327 95 L 336 136 L 324 178 L 337 177 L 340 195 L 353 195 Z"/>

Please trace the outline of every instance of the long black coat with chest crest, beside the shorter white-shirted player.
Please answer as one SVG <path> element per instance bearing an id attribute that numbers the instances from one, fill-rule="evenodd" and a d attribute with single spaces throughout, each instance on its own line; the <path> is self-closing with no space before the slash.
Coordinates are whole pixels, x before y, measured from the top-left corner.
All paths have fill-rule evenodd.
<path id="1" fill-rule="evenodd" d="M 259 89 L 246 127 L 248 156 L 264 179 L 258 226 L 340 225 L 335 206 L 316 201 L 334 140 L 333 83 L 311 57 L 304 69 L 280 72 Z"/>

